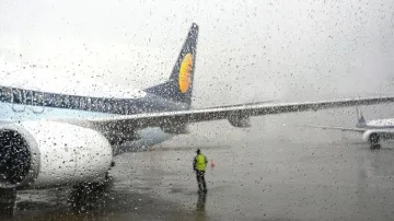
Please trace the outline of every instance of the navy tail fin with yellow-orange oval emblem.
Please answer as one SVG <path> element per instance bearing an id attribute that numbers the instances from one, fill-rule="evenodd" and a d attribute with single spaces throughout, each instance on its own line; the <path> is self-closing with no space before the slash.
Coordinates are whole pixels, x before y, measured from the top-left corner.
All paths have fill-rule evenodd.
<path id="1" fill-rule="evenodd" d="M 148 93 L 163 98 L 192 104 L 193 79 L 196 68 L 198 25 L 192 24 L 187 38 L 177 57 L 170 79 L 159 85 L 147 89 Z"/>

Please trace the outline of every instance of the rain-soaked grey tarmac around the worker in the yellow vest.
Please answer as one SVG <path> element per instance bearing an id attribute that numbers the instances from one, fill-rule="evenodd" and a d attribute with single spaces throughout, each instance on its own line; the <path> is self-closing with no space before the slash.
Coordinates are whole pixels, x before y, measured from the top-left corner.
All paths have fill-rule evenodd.
<path id="1" fill-rule="evenodd" d="M 268 143 L 266 143 L 268 144 Z M 108 186 L 84 190 L 19 193 L 11 219 L 30 220 L 228 220 L 393 218 L 393 149 L 367 146 L 311 147 L 291 150 L 271 143 L 262 159 L 253 153 L 230 158 L 231 148 L 209 168 L 209 193 L 197 184 L 183 151 L 151 151 L 119 156 Z M 275 151 L 274 151 L 275 150 Z M 202 149 L 204 151 L 204 149 Z M 277 156 L 270 154 L 277 152 Z M 169 154 L 165 154 L 169 153 Z M 219 158 L 223 155 L 224 159 Z M 290 160 L 293 159 L 293 160 Z M 228 160 L 230 162 L 228 162 Z M 231 162 L 241 161 L 236 167 Z M 137 163 L 137 164 L 135 164 Z M 139 165 L 137 167 L 136 165 Z M 3 217 L 5 214 L 3 213 Z"/>

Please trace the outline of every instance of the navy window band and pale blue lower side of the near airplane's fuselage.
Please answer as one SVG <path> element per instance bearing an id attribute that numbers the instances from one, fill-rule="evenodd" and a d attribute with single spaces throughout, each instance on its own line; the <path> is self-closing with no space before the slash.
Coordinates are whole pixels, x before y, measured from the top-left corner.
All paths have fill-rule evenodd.
<path id="1" fill-rule="evenodd" d="M 1 120 L 109 117 L 188 108 L 188 104 L 149 93 L 140 98 L 107 98 L 0 86 Z"/>

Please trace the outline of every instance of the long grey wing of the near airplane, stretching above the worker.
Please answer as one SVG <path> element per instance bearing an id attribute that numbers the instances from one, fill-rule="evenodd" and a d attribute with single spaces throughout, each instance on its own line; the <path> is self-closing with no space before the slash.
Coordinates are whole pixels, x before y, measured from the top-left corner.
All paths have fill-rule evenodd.
<path id="1" fill-rule="evenodd" d="M 297 113 L 308 111 L 318 111 L 336 107 L 348 107 L 357 105 L 372 105 L 394 102 L 393 96 L 369 97 L 369 98 L 349 98 L 336 101 L 320 102 L 300 102 L 300 103 L 264 103 L 236 105 L 228 107 L 213 107 L 189 111 L 147 113 L 103 118 L 88 119 L 99 127 L 111 127 L 113 129 L 127 129 L 158 127 L 158 126 L 183 126 L 188 123 L 198 123 L 207 120 L 228 119 L 235 127 L 248 127 L 251 116 L 275 115 L 285 113 Z M 127 127 L 127 128 L 125 128 Z"/>

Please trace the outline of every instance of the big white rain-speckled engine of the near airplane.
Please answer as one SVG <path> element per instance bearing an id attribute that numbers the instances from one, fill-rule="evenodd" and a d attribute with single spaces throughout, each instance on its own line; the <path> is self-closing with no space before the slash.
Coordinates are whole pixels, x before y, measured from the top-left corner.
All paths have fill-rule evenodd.
<path id="1" fill-rule="evenodd" d="M 100 132 L 59 121 L 0 126 L 0 188 L 42 188 L 99 181 L 113 151 Z"/>

